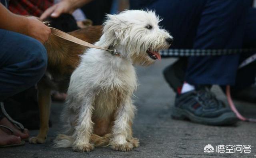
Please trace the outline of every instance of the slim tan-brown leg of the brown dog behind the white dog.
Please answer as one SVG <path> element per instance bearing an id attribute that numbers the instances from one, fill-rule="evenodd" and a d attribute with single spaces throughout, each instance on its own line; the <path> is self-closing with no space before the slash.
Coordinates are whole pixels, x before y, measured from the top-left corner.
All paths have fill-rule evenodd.
<path id="1" fill-rule="evenodd" d="M 32 144 L 44 143 L 49 130 L 49 117 L 51 109 L 51 90 L 38 83 L 38 105 L 40 112 L 40 129 L 36 137 L 30 138 Z"/>

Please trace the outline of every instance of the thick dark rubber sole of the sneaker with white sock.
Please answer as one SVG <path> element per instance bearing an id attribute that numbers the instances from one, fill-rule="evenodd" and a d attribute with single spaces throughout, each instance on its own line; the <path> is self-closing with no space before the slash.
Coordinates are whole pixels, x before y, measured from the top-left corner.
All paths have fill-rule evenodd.
<path id="1" fill-rule="evenodd" d="M 173 119 L 178 119 L 178 120 L 189 119 L 192 122 L 197 122 L 200 124 L 224 126 L 224 125 L 233 125 L 236 122 L 238 122 L 238 118 L 233 112 L 224 113 L 219 117 L 205 118 L 205 117 L 198 117 L 190 113 L 189 111 L 186 111 L 177 107 L 172 107 L 171 110 L 172 110 L 171 117 Z"/>

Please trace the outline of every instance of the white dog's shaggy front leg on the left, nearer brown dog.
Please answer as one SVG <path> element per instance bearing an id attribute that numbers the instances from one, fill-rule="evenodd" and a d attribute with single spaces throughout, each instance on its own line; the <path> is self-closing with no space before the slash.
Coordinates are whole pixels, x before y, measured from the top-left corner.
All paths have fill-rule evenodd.
<path id="1" fill-rule="evenodd" d="M 90 144 L 90 137 L 93 131 L 92 111 L 94 108 L 92 101 L 92 98 L 85 99 L 84 104 L 79 109 L 78 122 L 72 135 L 74 151 L 89 152 L 94 149 L 94 146 Z"/>

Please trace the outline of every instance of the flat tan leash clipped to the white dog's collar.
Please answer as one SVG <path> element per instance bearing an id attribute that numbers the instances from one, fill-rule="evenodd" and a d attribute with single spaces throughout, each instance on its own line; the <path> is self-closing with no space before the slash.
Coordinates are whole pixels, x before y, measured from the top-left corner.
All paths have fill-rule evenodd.
<path id="1" fill-rule="evenodd" d="M 102 50 L 105 50 L 105 51 L 108 51 L 110 52 L 112 55 L 116 55 L 116 56 L 119 56 L 120 54 L 116 51 L 115 48 L 113 49 L 105 49 L 103 47 L 100 47 L 100 46 L 97 46 L 97 45 L 93 45 L 91 43 L 88 43 L 86 41 L 83 41 L 82 39 L 79 39 L 79 38 L 76 38 L 70 34 L 67 34 L 66 32 L 63 32 L 63 31 L 60 31 L 56 28 L 52 28 L 50 27 L 49 25 L 49 22 L 43 22 L 43 24 L 45 24 L 46 26 L 48 26 L 50 29 L 51 29 L 51 34 L 55 35 L 55 36 L 58 36 L 60 38 L 63 38 L 67 41 L 71 41 L 73 43 L 76 43 L 76 44 L 79 44 L 79 45 L 83 45 L 83 46 L 86 46 L 86 47 L 91 47 L 91 48 L 96 48 L 96 49 L 102 49 Z"/>

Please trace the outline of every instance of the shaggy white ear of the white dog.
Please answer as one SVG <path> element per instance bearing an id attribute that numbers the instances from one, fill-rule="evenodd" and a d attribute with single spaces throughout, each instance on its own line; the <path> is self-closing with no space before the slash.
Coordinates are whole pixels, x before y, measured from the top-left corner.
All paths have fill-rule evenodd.
<path id="1" fill-rule="evenodd" d="M 106 38 L 109 40 L 108 43 L 111 45 L 116 45 L 119 41 L 125 37 L 126 33 L 126 25 L 122 20 L 118 17 L 118 15 L 106 15 L 106 21 L 104 22 L 103 33 Z"/>

